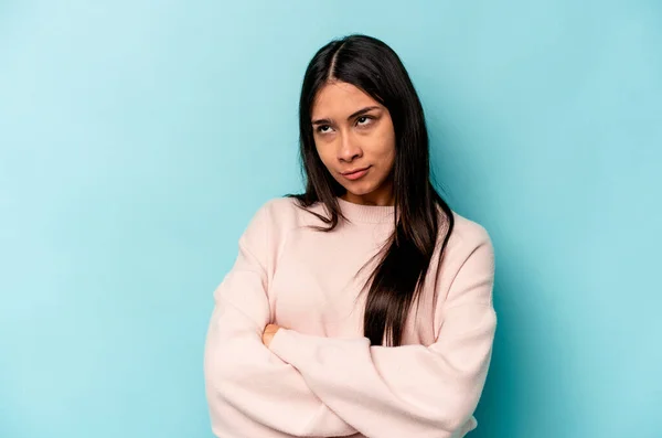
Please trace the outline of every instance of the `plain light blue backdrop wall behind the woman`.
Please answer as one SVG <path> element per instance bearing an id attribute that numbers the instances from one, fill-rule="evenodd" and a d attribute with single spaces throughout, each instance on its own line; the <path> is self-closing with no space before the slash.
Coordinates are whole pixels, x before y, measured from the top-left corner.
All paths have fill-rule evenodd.
<path id="1" fill-rule="evenodd" d="M 212 292 L 334 36 L 401 55 L 498 258 L 476 438 L 659 438 L 659 1 L 0 2 L 0 437 L 210 438 Z"/>

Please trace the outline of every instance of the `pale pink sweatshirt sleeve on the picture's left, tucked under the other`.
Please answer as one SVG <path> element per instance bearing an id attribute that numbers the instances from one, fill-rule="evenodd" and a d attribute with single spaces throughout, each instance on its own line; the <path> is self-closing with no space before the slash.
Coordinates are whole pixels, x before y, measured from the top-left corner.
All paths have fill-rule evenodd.
<path id="1" fill-rule="evenodd" d="M 273 256 L 266 207 L 239 239 L 235 265 L 214 291 L 204 351 L 205 393 L 212 430 L 245 434 L 246 420 L 291 436 L 355 434 L 307 386 L 291 365 L 261 341 L 270 321 L 266 267 Z"/>

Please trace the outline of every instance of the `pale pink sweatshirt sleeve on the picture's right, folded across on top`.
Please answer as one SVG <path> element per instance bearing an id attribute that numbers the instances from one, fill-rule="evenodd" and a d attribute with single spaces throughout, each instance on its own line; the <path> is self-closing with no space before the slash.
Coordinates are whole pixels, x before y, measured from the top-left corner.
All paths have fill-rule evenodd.
<path id="1" fill-rule="evenodd" d="M 496 325 L 489 237 L 467 254 L 440 306 L 441 329 L 429 346 L 371 346 L 366 338 L 319 338 L 281 329 L 270 349 L 365 436 L 462 436 L 476 426 L 472 415 Z"/>

